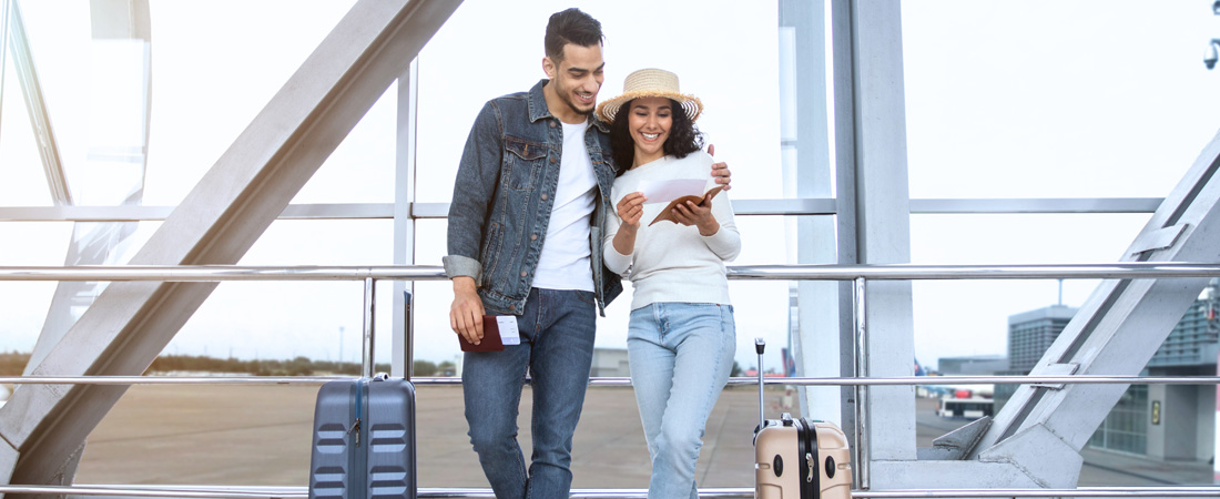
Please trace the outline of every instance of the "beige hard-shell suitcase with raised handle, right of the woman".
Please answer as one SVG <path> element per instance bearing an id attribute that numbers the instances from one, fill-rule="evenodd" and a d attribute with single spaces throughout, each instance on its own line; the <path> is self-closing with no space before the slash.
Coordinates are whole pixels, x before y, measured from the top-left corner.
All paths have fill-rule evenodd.
<path id="1" fill-rule="evenodd" d="M 762 397 L 761 338 L 759 354 L 759 427 L 754 429 L 754 497 L 756 499 L 850 499 L 852 454 L 847 436 L 834 423 L 809 417 L 766 420 Z"/>

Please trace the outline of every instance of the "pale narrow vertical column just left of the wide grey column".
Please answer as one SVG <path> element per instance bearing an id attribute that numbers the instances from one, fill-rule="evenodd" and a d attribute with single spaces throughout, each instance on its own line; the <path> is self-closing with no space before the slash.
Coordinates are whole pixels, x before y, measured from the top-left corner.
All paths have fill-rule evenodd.
<path id="1" fill-rule="evenodd" d="M 822 0 L 780 1 L 781 139 L 786 196 L 831 198 L 830 133 L 826 106 L 826 4 Z M 795 218 L 798 264 L 836 264 L 834 218 Z M 797 331 L 793 338 L 797 376 L 841 376 L 838 283 L 798 281 Z M 850 365 L 848 365 L 850 367 Z M 842 425 L 841 389 L 806 387 L 804 414 Z"/>

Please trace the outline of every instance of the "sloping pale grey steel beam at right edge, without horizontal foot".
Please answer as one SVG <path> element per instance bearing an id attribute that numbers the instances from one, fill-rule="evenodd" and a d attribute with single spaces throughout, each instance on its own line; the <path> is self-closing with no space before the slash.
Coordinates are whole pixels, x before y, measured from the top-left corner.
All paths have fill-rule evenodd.
<path id="1" fill-rule="evenodd" d="M 1215 261 L 1220 257 L 1220 134 L 1165 198 L 1121 261 Z M 1137 375 L 1165 342 L 1208 278 L 1104 281 L 1076 312 L 1031 375 Z M 1039 454 L 1024 437 L 1049 433 L 1078 453 L 1126 384 L 1021 386 L 974 455 L 992 448 Z M 1060 478 L 1075 470 L 1053 470 Z"/>

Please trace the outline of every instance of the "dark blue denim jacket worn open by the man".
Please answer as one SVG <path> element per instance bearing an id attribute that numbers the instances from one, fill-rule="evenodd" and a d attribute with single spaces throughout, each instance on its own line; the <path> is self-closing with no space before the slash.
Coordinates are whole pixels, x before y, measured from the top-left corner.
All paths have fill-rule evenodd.
<path id="1" fill-rule="evenodd" d="M 488 314 L 521 315 L 533 283 L 559 185 L 564 127 L 550 113 L 543 87 L 483 105 L 458 166 L 449 205 L 449 278 L 470 276 Z M 584 145 L 598 178 L 590 217 L 589 256 L 598 310 L 619 293 L 619 276 L 601 262 L 601 233 L 610 209 L 615 166 L 609 127 L 589 117 Z"/>

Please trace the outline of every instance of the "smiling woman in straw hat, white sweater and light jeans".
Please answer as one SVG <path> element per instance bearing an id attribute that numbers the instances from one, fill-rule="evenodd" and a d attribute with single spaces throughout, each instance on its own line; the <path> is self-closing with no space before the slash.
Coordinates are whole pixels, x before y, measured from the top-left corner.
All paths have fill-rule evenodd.
<path id="1" fill-rule="evenodd" d="M 662 70 L 628 74 L 623 94 L 598 107 L 611 123 L 620 170 L 605 265 L 634 288 L 627 355 L 653 460 L 650 499 L 698 498 L 704 427 L 733 367 L 725 262 L 741 251 L 741 235 L 726 194 L 676 205 L 677 223 L 651 223 L 667 203 L 639 192 L 645 182 L 708 178 L 714 161 L 694 126 L 702 111 L 699 99 L 678 92 L 677 76 Z M 704 190 L 714 185 L 708 181 Z"/>

